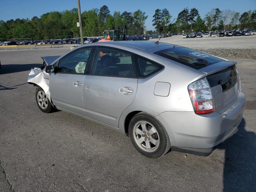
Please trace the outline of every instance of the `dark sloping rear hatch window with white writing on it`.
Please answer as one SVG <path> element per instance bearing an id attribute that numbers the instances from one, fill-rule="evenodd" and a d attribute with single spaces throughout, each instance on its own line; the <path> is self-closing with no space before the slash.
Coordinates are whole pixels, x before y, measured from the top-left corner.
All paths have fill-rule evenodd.
<path id="1" fill-rule="evenodd" d="M 195 51 L 184 47 L 173 47 L 155 52 L 164 58 L 179 62 L 180 64 L 192 67 L 194 69 L 201 69 L 206 66 L 224 61 L 218 57 L 211 56 L 206 53 Z"/>

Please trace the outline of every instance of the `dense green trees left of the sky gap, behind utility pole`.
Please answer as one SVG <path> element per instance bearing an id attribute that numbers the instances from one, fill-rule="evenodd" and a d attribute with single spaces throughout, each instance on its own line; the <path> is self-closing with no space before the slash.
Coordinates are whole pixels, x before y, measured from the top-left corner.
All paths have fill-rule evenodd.
<path id="1" fill-rule="evenodd" d="M 135 12 L 115 11 L 110 14 L 108 6 L 100 9 L 82 12 L 84 36 L 103 36 L 106 29 L 116 29 L 119 26 L 127 26 L 128 35 L 143 34 L 145 21 L 148 18 L 146 13 L 138 9 Z M 76 38 L 79 37 L 78 10 L 65 10 L 63 12 L 50 12 L 43 14 L 40 18 L 34 16 L 31 20 L 19 19 L 0 20 L 0 40 L 10 38 L 32 38 L 33 40 Z"/>

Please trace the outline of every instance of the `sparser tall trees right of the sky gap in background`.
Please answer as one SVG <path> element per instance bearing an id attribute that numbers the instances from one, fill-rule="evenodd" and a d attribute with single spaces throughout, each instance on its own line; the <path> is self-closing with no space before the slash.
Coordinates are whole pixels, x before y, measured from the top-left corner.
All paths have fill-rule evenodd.
<path id="1" fill-rule="evenodd" d="M 149 34 L 256 28 L 256 10 L 249 10 L 240 15 L 239 12 L 214 8 L 201 18 L 196 8 L 189 10 L 187 7 L 178 14 L 174 24 L 171 24 L 172 16 L 169 11 L 156 9 L 153 18 L 152 25 L 156 30 L 148 31 Z"/>

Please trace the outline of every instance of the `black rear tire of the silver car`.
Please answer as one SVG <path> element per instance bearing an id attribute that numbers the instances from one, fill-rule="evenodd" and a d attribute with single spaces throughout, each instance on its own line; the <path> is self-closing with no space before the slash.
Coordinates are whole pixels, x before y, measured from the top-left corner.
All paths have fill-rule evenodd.
<path id="1" fill-rule="evenodd" d="M 136 133 L 136 130 L 140 129 L 143 132 L 143 128 L 142 128 L 141 124 L 142 123 L 144 124 L 145 122 L 146 122 L 145 127 L 147 129 L 146 134 L 144 134 L 144 136 L 143 135 L 140 136 L 140 134 Z M 138 126 L 138 124 L 140 124 L 140 125 Z M 150 130 L 152 128 L 155 128 L 156 134 L 152 134 L 152 135 L 148 134 L 148 133 L 150 133 Z M 136 150 L 138 150 L 138 152 L 140 152 L 141 154 L 143 154 L 144 156 L 149 157 L 149 158 L 158 158 L 160 156 L 163 156 L 171 148 L 170 139 L 169 139 L 169 136 L 168 136 L 164 126 L 160 123 L 160 121 L 158 121 L 156 118 L 154 118 L 154 116 L 152 116 L 146 112 L 140 112 L 140 113 L 136 114 L 131 119 L 130 124 L 129 124 L 129 136 L 130 136 L 130 140 L 131 140 L 133 146 L 136 148 Z M 152 138 L 152 136 L 154 136 L 154 139 Z M 152 144 L 151 141 L 148 141 L 148 140 L 150 140 L 150 138 L 151 138 L 151 141 L 158 140 L 158 144 L 155 145 L 155 148 L 154 148 L 154 144 Z M 144 142 L 143 139 L 146 142 L 150 143 L 150 147 L 152 147 L 152 150 L 150 148 L 148 150 L 146 147 L 144 147 L 144 146 L 146 146 L 146 142 Z M 141 141 L 142 141 L 142 143 L 139 144 Z"/>

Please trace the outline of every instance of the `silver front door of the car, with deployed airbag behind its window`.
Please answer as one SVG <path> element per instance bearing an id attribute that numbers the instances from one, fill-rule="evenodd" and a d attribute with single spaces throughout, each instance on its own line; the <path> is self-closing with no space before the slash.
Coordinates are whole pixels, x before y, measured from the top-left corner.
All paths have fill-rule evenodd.
<path id="1" fill-rule="evenodd" d="M 91 54 L 92 47 L 85 47 L 59 60 L 50 76 L 50 94 L 58 108 L 84 115 L 84 79 Z"/>

